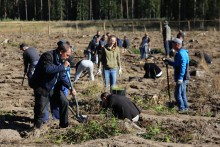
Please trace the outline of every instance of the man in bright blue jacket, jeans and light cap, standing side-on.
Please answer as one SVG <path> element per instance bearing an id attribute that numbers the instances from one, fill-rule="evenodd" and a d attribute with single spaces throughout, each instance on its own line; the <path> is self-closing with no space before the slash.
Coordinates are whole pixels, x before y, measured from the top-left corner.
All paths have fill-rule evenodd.
<path id="1" fill-rule="evenodd" d="M 172 42 L 173 48 L 176 51 L 174 61 L 165 59 L 164 62 L 174 68 L 174 80 L 176 82 L 174 96 L 181 113 L 188 110 L 186 84 L 187 80 L 189 80 L 189 55 L 188 51 L 182 48 L 181 39 L 175 38 Z"/>

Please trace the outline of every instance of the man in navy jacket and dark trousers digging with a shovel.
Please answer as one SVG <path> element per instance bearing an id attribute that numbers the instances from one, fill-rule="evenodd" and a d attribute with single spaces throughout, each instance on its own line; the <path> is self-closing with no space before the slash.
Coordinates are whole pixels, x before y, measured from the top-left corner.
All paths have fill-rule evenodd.
<path id="1" fill-rule="evenodd" d="M 70 82 L 66 78 L 66 70 L 70 63 L 66 61 L 71 54 L 71 48 L 63 43 L 57 49 L 42 54 L 31 78 L 31 87 L 34 89 L 34 126 L 41 128 L 42 119 L 47 109 L 49 99 L 56 99 L 60 110 L 60 127 L 68 126 L 68 100 L 61 90 L 61 86 L 71 90 Z"/>

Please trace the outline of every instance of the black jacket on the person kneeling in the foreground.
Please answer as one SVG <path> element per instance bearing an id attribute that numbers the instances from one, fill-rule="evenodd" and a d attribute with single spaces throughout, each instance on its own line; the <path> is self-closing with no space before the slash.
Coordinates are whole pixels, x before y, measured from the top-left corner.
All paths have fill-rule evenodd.
<path id="1" fill-rule="evenodd" d="M 107 107 L 112 108 L 115 117 L 132 120 L 140 114 L 139 108 L 131 100 L 122 95 L 112 94 L 107 98 Z"/>

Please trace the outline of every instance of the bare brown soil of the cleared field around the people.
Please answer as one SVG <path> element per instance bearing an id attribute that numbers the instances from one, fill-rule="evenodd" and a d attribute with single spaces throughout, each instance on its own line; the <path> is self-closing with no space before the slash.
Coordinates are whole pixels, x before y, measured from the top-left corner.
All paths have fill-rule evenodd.
<path id="1" fill-rule="evenodd" d="M 185 32 L 185 46 L 189 50 L 190 59 L 200 64 L 191 66 L 190 71 L 202 71 L 202 75 L 191 76 L 187 88 L 190 111 L 188 114 L 157 111 L 159 106 L 167 107 L 167 80 L 165 65 L 161 61 L 164 56 L 155 54 L 156 63 L 163 70 L 163 75 L 158 79 L 144 79 L 144 70 L 140 64 L 138 54 L 128 52 L 121 54 L 123 75 L 118 77 L 118 85 L 126 88 L 128 97 L 133 98 L 142 109 L 143 121 L 137 125 L 143 131 L 149 132 L 148 126 L 160 126 L 161 132 L 169 134 L 169 143 L 163 138 L 163 133 L 156 135 L 157 141 L 144 139 L 141 134 L 131 132 L 107 139 L 97 139 L 76 146 L 219 146 L 220 145 L 220 33 L 219 32 Z M 123 37 L 123 33 L 117 33 Z M 173 32 L 176 34 L 176 32 Z M 132 47 L 138 47 L 143 33 L 129 33 Z M 18 45 L 26 42 L 42 54 L 54 49 L 56 42 L 66 39 L 76 48 L 79 56 L 88 46 L 93 34 L 0 34 L 0 146 L 54 146 L 42 135 L 40 138 L 28 137 L 27 133 L 33 127 L 33 90 L 28 86 L 27 79 L 21 86 L 23 78 L 22 52 Z M 162 46 L 161 32 L 149 32 L 151 49 L 160 49 Z M 8 41 L 5 41 L 8 39 Z M 194 39 L 197 42 L 188 43 Z M 3 42 L 5 41 L 5 42 Z M 195 51 L 205 51 L 213 58 L 213 63 L 207 65 L 202 59 L 195 57 Z M 76 58 L 78 61 L 80 58 Z M 95 67 L 95 72 L 97 67 Z M 74 69 L 71 76 L 74 77 Z M 173 97 L 173 69 L 169 68 L 170 87 Z M 97 87 L 89 91 L 91 87 Z M 98 117 L 99 107 L 97 99 L 104 90 L 103 80 L 95 76 L 95 81 L 89 81 L 87 76 L 81 78 L 75 88 L 78 92 L 80 112 L 87 114 L 89 119 Z M 71 99 L 71 97 L 69 97 Z M 140 103 L 140 101 L 142 103 Z M 77 125 L 74 117 L 70 117 L 70 127 Z M 50 121 L 48 129 L 58 127 L 58 122 Z M 63 144 L 63 146 L 73 146 Z"/>

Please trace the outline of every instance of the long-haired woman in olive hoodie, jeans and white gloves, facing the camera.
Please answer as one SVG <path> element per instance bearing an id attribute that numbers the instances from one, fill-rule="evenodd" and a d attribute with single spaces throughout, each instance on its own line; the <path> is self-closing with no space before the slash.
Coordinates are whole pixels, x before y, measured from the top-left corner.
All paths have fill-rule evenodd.
<path id="1" fill-rule="evenodd" d="M 121 75 L 122 68 L 120 60 L 120 50 L 117 46 L 117 37 L 114 35 L 111 35 L 108 38 L 108 44 L 103 48 L 101 62 L 99 62 L 98 64 L 98 75 L 102 74 L 102 69 L 104 71 L 106 89 L 109 85 L 109 81 L 110 88 L 116 86 L 117 69 L 119 75 Z"/>

